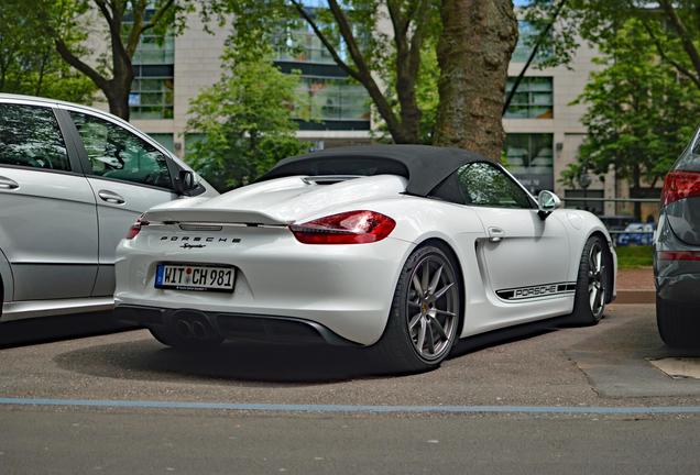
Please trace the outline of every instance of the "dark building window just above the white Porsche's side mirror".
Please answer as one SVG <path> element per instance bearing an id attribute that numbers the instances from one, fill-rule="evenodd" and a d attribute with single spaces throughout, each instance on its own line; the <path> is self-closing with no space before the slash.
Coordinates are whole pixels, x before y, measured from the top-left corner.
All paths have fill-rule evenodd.
<path id="1" fill-rule="evenodd" d="M 506 167 L 532 192 L 554 188 L 554 135 L 513 133 L 505 137 Z"/>

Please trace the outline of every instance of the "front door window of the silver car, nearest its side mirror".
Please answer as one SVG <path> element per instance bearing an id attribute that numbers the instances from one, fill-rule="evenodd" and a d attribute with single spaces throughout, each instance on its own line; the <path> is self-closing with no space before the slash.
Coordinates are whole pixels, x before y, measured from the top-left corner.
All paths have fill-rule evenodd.
<path id="1" fill-rule="evenodd" d="M 94 115 L 70 112 L 83 139 L 91 174 L 171 188 L 167 158 L 128 130 Z"/>

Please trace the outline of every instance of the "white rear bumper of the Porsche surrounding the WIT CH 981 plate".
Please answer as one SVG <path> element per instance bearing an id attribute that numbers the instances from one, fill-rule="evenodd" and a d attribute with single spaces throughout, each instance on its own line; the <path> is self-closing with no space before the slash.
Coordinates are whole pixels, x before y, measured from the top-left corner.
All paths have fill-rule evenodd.
<path id="1" fill-rule="evenodd" d="M 151 236 L 122 241 L 116 263 L 116 305 L 291 318 L 371 345 L 384 332 L 398 274 L 414 247 L 391 238 L 372 244 L 307 245 L 288 230 L 275 229 L 243 228 L 229 235 L 241 242 L 184 251 L 160 245 L 160 233 L 152 231 Z M 232 265 L 234 290 L 155 288 L 160 262 Z"/>

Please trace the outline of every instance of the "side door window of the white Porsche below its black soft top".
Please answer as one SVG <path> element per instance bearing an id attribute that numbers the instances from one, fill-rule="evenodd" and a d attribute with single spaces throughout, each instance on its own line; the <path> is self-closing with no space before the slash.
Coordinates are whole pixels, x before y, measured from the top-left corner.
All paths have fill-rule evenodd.
<path id="1" fill-rule="evenodd" d="M 457 172 L 464 205 L 532 208 L 527 194 L 511 177 L 486 163 L 464 165 Z"/>

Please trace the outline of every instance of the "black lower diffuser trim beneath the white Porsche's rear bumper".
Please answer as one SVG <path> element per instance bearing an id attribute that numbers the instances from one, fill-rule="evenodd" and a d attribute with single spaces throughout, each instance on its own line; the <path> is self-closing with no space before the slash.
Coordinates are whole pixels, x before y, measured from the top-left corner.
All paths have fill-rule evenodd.
<path id="1" fill-rule="evenodd" d="M 225 339 L 267 343 L 358 345 L 320 323 L 288 317 L 173 310 L 141 306 L 118 306 L 114 309 L 114 317 L 123 323 L 158 328 L 172 325 L 176 312 L 179 316 L 192 313 L 197 318 L 206 319 L 209 328 Z"/>

